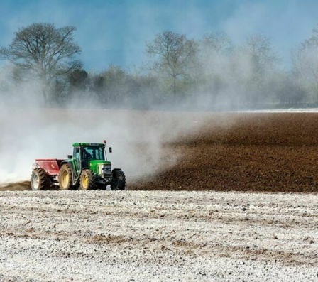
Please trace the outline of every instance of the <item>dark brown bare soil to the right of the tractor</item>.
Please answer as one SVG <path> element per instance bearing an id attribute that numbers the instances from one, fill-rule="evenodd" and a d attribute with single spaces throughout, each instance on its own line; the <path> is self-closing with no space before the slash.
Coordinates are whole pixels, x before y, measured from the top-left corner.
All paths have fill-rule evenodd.
<path id="1" fill-rule="evenodd" d="M 176 166 L 129 189 L 317 192 L 317 145 L 317 113 L 214 116 L 167 145 Z"/>

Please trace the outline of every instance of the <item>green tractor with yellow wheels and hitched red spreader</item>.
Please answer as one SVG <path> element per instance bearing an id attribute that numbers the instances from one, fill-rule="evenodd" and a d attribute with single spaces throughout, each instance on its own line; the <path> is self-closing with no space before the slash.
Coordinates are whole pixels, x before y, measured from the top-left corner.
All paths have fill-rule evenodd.
<path id="1" fill-rule="evenodd" d="M 73 155 L 66 160 L 36 159 L 31 175 L 32 190 L 125 190 L 126 178 L 120 168 L 111 170 L 104 143 L 74 143 Z"/>

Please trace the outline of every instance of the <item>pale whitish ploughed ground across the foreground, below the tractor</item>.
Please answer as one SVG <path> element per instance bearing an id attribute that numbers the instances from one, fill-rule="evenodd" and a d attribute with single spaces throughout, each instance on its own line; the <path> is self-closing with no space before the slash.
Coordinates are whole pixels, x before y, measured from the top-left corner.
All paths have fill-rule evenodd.
<path id="1" fill-rule="evenodd" d="M 318 281 L 318 195 L 0 192 L 0 281 Z"/>

